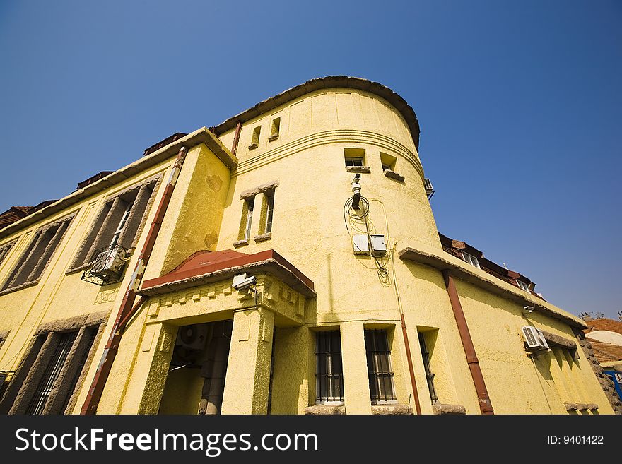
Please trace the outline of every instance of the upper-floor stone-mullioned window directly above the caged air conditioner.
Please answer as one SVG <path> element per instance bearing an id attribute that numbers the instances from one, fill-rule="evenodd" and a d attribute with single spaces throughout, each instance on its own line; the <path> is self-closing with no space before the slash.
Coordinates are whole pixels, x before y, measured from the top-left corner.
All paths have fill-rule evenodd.
<path id="1" fill-rule="evenodd" d="M 135 186 L 104 203 L 74 262 L 71 263 L 70 270 L 77 270 L 88 264 L 96 250 L 117 244 L 124 249 L 136 245 L 157 182 L 158 179 L 153 179 Z"/>

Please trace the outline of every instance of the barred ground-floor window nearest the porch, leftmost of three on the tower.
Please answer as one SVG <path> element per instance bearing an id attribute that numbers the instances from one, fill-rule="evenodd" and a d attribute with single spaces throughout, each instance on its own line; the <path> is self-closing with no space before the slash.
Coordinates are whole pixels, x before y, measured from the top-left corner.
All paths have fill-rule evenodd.
<path id="1" fill-rule="evenodd" d="M 315 399 L 318 403 L 344 400 L 339 331 L 315 334 Z"/>

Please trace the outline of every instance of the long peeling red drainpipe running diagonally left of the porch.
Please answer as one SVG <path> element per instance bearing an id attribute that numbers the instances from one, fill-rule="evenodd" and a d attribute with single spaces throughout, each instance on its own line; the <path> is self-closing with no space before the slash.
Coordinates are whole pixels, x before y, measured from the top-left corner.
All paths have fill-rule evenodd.
<path id="1" fill-rule="evenodd" d="M 166 209 L 168 208 L 168 203 L 170 203 L 172 192 L 175 190 L 177 178 L 179 177 L 182 166 L 184 165 L 186 154 L 187 148 L 184 146 L 180 148 L 179 153 L 177 153 L 175 164 L 173 164 L 170 177 L 166 183 L 164 194 L 160 200 L 160 204 L 158 205 L 158 210 L 155 212 L 155 218 L 153 218 L 153 222 L 151 222 L 149 232 L 147 233 L 147 239 L 143 245 L 143 250 L 141 251 L 138 261 L 136 261 L 134 273 L 132 273 L 131 279 L 127 285 L 125 296 L 123 297 L 121 307 L 117 313 L 115 325 L 112 326 L 110 338 L 108 338 L 108 343 L 106 343 L 106 347 L 104 348 L 100 365 L 98 366 L 97 372 L 95 372 L 95 377 L 93 378 L 93 382 L 90 384 L 90 388 L 88 388 L 88 395 L 86 395 L 86 400 L 82 406 L 82 410 L 80 412 L 81 415 L 93 415 L 97 412 L 100 399 L 102 398 L 102 392 L 104 391 L 104 386 L 108 379 L 108 375 L 110 374 L 110 369 L 112 369 L 112 363 L 115 362 L 115 357 L 117 356 L 117 351 L 119 350 L 119 343 L 122 337 L 122 328 L 125 323 L 129 321 L 131 315 L 139 309 L 139 304 L 134 306 L 136 290 L 138 290 L 141 285 L 143 273 L 145 272 L 145 268 L 149 262 L 149 258 L 151 257 L 151 251 L 153 251 L 155 239 L 158 238 L 158 232 L 160 232 L 160 227 L 162 226 L 162 221 L 164 219 L 164 215 L 166 214 Z"/>

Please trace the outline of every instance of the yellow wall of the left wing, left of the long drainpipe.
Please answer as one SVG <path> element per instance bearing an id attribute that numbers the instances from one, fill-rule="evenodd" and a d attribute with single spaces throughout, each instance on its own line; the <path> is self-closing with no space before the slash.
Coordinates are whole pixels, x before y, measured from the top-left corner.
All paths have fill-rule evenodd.
<path id="1" fill-rule="evenodd" d="M 69 269 L 74 260 L 79 246 L 86 239 L 95 215 L 100 210 L 105 198 L 114 196 L 129 186 L 140 184 L 156 175 L 164 175 L 169 165 L 170 160 L 130 176 L 124 182 L 110 186 L 110 188 L 91 198 L 86 198 L 61 213 L 54 214 L 25 230 L 0 240 L 1 246 L 1 244 L 11 242 L 18 237 L 16 246 L 13 246 L 9 256 L 0 267 L 0 281 L 4 282 L 30 243 L 30 237 L 35 230 L 64 218 L 66 215 L 75 214 L 74 220 L 72 220 L 69 229 L 49 261 L 40 282 L 33 287 L 0 296 L 0 331 L 11 331 L 0 351 L 0 369 L 15 370 L 18 367 L 25 348 L 28 347 L 30 339 L 35 335 L 35 331 L 41 323 L 100 311 L 116 311 L 124 292 L 124 290 L 119 291 L 119 288 L 127 287 L 130 272 L 125 273 L 124 281 L 119 284 L 99 287 L 81 280 L 82 271 L 66 274 L 66 270 Z M 156 204 L 161 193 L 161 189 L 159 192 L 155 192 Z M 155 208 L 152 208 L 146 220 L 146 229 L 148 229 L 154 213 Z M 139 249 L 144 237 L 145 234 L 139 240 Z M 135 266 L 137 257 L 138 253 L 134 253 L 134 256 L 127 263 L 127 268 Z M 102 340 L 106 340 L 108 335 L 109 333 L 106 331 Z M 99 360 L 103 344 L 104 341 L 102 341 L 102 346 L 95 359 Z M 91 373 L 94 374 L 94 370 Z M 81 395 L 76 405 L 77 410 L 81 408 L 83 398 L 84 395 Z"/>

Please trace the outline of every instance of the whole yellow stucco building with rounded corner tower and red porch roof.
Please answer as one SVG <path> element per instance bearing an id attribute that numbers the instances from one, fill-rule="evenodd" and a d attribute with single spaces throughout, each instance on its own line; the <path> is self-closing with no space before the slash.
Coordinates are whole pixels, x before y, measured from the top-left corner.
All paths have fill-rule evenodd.
<path id="1" fill-rule="evenodd" d="M 585 323 L 439 235 L 418 136 L 314 79 L 8 223 L 0 412 L 612 414 Z"/>

